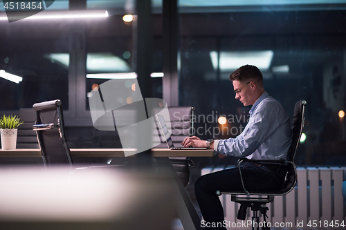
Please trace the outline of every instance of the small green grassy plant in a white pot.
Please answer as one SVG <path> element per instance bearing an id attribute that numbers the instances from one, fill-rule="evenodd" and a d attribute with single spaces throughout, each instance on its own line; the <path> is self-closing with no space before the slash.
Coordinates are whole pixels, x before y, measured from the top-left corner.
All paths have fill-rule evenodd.
<path id="1" fill-rule="evenodd" d="M 19 117 L 3 115 L 0 117 L 1 148 L 3 150 L 16 149 L 18 126 L 23 124 Z"/>

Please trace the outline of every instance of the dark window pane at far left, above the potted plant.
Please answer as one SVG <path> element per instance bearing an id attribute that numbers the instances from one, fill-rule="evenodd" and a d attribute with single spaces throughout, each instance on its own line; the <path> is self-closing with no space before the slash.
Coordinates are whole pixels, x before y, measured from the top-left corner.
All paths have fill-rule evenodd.
<path id="1" fill-rule="evenodd" d="M 12 35 L 10 27 L 5 31 L 10 36 L 0 39 L 0 111 L 19 111 L 57 98 L 68 110 L 69 39 L 23 39 L 20 34 Z M 20 77 L 20 82 L 6 74 Z"/>

